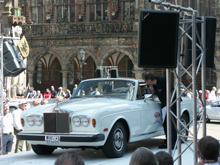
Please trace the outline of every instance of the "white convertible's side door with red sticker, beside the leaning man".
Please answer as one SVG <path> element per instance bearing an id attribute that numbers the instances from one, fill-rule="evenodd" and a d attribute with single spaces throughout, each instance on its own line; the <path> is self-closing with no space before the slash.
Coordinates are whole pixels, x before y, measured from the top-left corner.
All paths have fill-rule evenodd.
<path id="1" fill-rule="evenodd" d="M 161 126 L 160 103 L 152 99 L 141 100 L 141 132 L 149 134 L 155 132 Z"/>

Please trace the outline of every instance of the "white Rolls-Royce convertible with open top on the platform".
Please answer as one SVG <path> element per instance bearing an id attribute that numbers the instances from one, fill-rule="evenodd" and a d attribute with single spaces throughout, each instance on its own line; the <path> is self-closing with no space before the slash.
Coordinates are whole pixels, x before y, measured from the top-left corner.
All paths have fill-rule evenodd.
<path id="1" fill-rule="evenodd" d="M 192 105 L 192 99 L 183 98 L 184 124 L 192 119 Z M 138 80 L 128 78 L 84 80 L 69 101 L 31 108 L 21 120 L 18 139 L 28 140 L 39 155 L 58 147 L 93 147 L 121 157 L 128 142 L 164 134 L 160 102 L 142 99 Z"/>

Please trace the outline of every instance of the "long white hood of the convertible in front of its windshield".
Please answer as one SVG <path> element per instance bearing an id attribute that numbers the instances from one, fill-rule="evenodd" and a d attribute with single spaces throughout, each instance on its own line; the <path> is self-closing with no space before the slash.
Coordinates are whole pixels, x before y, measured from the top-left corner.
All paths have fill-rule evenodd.
<path id="1" fill-rule="evenodd" d="M 62 113 L 64 111 L 69 113 L 77 113 L 87 111 L 97 111 L 97 110 L 108 110 L 109 108 L 120 108 L 128 107 L 131 101 L 124 99 L 115 99 L 115 98 L 77 98 L 71 99 L 66 102 L 60 102 L 58 105 L 56 103 L 48 104 L 44 106 L 38 106 L 34 108 L 30 108 L 26 111 L 26 115 L 28 114 L 42 114 L 45 112 L 51 112 L 53 109 L 58 109 Z"/>

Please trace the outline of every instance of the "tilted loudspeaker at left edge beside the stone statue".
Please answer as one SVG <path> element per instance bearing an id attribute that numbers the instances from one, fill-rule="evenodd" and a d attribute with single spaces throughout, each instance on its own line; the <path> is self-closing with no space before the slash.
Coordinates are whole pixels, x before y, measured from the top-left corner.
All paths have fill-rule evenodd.
<path id="1" fill-rule="evenodd" d="M 15 77 L 26 69 L 18 48 L 11 42 L 3 43 L 4 76 Z"/>

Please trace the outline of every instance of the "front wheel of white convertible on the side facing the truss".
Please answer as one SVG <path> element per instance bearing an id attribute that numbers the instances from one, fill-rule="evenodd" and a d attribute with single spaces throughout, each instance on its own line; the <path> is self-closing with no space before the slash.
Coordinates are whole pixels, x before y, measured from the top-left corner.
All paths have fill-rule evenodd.
<path id="1" fill-rule="evenodd" d="M 113 126 L 105 145 L 102 147 L 102 151 L 106 157 L 118 158 L 124 155 L 126 145 L 127 133 L 125 127 L 118 122 Z"/>

